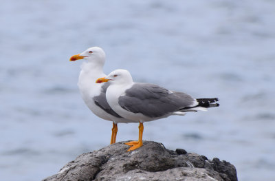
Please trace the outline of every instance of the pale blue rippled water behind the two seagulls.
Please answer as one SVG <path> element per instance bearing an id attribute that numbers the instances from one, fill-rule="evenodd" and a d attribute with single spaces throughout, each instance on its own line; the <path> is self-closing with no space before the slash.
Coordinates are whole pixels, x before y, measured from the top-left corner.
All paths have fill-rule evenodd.
<path id="1" fill-rule="evenodd" d="M 227 160 L 239 180 L 275 171 L 274 1 L 3 1 L 0 7 L 1 180 L 42 180 L 80 153 L 109 144 L 111 123 L 91 114 L 76 83 L 100 46 L 106 73 L 129 70 L 196 98 L 208 112 L 144 125 L 144 140 Z M 136 124 L 118 125 L 136 140 Z"/>

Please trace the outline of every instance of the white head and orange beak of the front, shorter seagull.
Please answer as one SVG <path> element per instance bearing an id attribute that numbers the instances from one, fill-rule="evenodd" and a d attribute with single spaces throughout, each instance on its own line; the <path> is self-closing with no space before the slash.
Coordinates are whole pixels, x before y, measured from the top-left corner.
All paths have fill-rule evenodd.
<path id="1" fill-rule="evenodd" d="M 129 84 L 133 83 L 133 78 L 128 70 L 118 69 L 111 72 L 108 76 L 96 80 L 96 83 L 106 82 L 111 84 Z"/>

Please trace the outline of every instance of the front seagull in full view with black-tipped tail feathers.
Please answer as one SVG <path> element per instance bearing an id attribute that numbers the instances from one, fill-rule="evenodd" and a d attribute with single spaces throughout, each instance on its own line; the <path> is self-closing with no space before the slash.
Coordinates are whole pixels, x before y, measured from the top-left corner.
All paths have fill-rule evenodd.
<path id="1" fill-rule="evenodd" d="M 184 116 L 188 111 L 206 111 L 218 107 L 218 98 L 192 98 L 151 83 L 135 83 L 127 70 L 114 70 L 96 83 L 110 83 L 106 98 L 111 108 L 123 118 L 139 125 L 138 141 L 126 142 L 128 151 L 142 147 L 143 123 L 171 115 Z"/>

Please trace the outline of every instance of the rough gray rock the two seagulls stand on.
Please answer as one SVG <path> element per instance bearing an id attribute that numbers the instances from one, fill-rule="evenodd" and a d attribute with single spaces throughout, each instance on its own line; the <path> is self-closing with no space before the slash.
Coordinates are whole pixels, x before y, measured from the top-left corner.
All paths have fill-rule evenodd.
<path id="1" fill-rule="evenodd" d="M 56 180 L 225 180 L 236 181 L 236 169 L 218 158 L 168 150 L 161 143 L 144 141 L 144 146 L 126 152 L 129 146 L 118 142 L 98 151 L 84 153 L 67 163 L 57 174 L 43 181 Z"/>

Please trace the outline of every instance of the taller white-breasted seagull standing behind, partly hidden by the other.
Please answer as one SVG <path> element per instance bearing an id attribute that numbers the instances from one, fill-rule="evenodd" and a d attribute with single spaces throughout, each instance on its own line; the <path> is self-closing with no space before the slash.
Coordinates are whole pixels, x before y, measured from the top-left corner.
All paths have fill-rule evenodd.
<path id="1" fill-rule="evenodd" d="M 98 77 L 106 76 L 103 72 L 105 53 L 100 47 L 90 47 L 81 54 L 72 56 L 69 60 L 76 61 L 84 59 L 78 78 L 80 94 L 89 109 L 96 116 L 113 122 L 111 144 L 115 143 L 118 133 L 117 123 L 131 123 L 111 109 L 105 96 L 109 83 L 99 85 L 96 83 Z"/>

